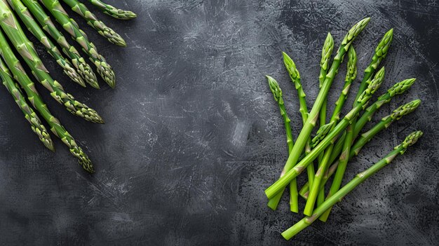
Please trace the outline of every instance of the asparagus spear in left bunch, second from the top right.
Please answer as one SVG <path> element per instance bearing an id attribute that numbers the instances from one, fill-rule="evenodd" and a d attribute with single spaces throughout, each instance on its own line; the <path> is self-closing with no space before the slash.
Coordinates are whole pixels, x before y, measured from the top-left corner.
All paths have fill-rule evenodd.
<path id="1" fill-rule="evenodd" d="M 62 0 L 64 1 L 70 8 L 72 8 L 72 11 L 75 11 L 79 15 L 81 15 L 86 21 L 87 24 L 90 27 L 93 27 L 101 36 L 104 36 L 107 38 L 108 41 L 111 43 L 114 43 L 118 46 L 126 47 L 125 40 L 122 39 L 122 37 L 114 32 L 113 29 L 107 27 L 107 25 L 104 24 L 104 22 L 97 19 L 91 11 L 88 10 L 88 8 L 81 4 L 79 1 L 76 0 Z M 52 1 L 55 2 L 55 1 Z"/>

